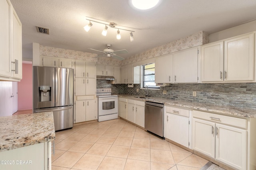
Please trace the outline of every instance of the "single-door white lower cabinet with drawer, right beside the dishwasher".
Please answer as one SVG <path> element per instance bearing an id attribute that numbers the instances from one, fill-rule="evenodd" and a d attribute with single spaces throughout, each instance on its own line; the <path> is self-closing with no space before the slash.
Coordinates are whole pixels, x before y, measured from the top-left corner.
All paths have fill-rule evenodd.
<path id="1" fill-rule="evenodd" d="M 187 148 L 190 147 L 190 111 L 166 106 L 165 137 Z"/>

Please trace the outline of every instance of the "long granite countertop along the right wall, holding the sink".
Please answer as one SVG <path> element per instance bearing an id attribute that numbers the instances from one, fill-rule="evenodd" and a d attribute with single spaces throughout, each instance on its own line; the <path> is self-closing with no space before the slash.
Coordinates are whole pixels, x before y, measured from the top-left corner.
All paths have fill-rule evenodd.
<path id="1" fill-rule="evenodd" d="M 129 98 L 132 100 L 140 100 L 140 101 L 149 101 L 149 102 L 158 102 L 163 103 L 171 106 L 178 106 L 178 107 L 186 107 L 189 109 L 194 110 L 201 110 L 201 111 L 210 111 L 220 114 L 227 114 L 227 115 L 236 115 L 240 117 L 249 117 L 249 118 L 256 118 L 256 109 L 248 109 L 248 108 L 239 108 L 239 107 L 228 107 L 228 106 L 213 106 L 209 104 L 202 104 L 198 102 L 186 102 L 186 101 L 178 101 L 178 100 L 166 100 L 162 98 L 136 98 L 135 96 L 120 94 L 118 97 Z"/>

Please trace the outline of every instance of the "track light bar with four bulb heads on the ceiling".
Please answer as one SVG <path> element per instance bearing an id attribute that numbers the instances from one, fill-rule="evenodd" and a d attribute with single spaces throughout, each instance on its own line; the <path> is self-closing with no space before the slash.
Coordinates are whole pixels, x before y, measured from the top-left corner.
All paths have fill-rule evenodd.
<path id="1" fill-rule="evenodd" d="M 89 19 L 87 19 L 89 18 Z M 95 18 L 92 18 L 92 19 L 95 19 Z M 128 29 L 122 29 L 122 28 L 116 28 L 116 23 L 114 22 L 110 22 L 109 24 L 106 24 L 106 23 L 102 23 L 102 22 L 99 22 L 99 21 L 95 21 L 95 20 L 98 20 L 98 19 L 95 19 L 95 20 L 91 20 L 90 17 L 86 17 L 86 20 L 90 21 L 90 23 L 88 23 L 86 26 L 84 26 L 84 30 L 86 32 L 88 32 L 90 30 L 90 28 L 92 27 L 92 23 L 91 22 L 96 22 L 96 23 L 101 23 L 101 24 L 104 24 L 105 27 L 102 31 L 102 35 L 103 36 L 106 36 L 107 35 L 107 31 L 108 31 L 108 26 L 111 27 L 111 28 L 115 28 L 115 29 L 118 29 L 117 30 L 117 33 L 116 33 L 116 39 L 121 39 L 121 34 L 120 34 L 120 30 L 124 30 L 124 31 L 129 31 L 130 32 L 130 41 L 133 41 L 134 38 L 133 38 L 133 35 L 132 35 L 132 32 L 135 32 L 135 31 L 132 31 L 132 30 L 128 30 Z M 108 25 L 108 26 L 107 26 Z"/>

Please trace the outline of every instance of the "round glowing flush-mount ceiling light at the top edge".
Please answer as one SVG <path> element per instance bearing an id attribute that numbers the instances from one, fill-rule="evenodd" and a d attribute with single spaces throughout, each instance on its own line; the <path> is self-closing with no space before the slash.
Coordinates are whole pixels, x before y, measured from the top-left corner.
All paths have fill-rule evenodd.
<path id="1" fill-rule="evenodd" d="M 152 10 L 160 5 L 162 0 L 129 0 L 129 4 L 136 10 Z"/>

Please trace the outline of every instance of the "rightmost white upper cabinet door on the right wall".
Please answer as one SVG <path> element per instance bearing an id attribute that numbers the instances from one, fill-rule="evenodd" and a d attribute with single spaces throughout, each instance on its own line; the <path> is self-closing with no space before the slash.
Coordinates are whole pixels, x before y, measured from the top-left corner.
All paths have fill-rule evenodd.
<path id="1" fill-rule="evenodd" d="M 224 78 L 254 80 L 254 33 L 224 41 Z"/>

